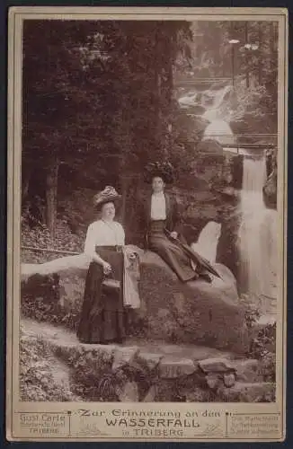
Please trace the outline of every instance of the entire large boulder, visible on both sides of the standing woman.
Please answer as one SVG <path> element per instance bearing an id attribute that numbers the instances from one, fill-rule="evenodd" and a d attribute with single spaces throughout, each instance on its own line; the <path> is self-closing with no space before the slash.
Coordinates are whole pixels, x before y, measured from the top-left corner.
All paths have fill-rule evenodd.
<path id="1" fill-rule="evenodd" d="M 138 336 L 246 350 L 244 312 L 229 269 L 216 264 L 222 278 L 214 277 L 211 284 L 200 279 L 182 284 L 155 253 L 136 250 L 141 272 L 141 307 L 134 320 Z M 22 264 L 22 313 L 75 329 L 88 265 L 84 255 Z"/>

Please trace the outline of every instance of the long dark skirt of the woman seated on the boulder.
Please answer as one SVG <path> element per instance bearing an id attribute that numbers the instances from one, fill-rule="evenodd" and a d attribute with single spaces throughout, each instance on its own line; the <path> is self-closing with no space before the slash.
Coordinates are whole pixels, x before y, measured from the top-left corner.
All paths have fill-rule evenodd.
<path id="1" fill-rule="evenodd" d="M 165 222 L 161 220 L 151 222 L 147 239 L 149 249 L 155 251 L 182 282 L 197 279 L 200 273 L 192 268 L 191 255 L 167 237 L 164 226 Z M 196 259 L 193 261 L 197 262 Z"/>

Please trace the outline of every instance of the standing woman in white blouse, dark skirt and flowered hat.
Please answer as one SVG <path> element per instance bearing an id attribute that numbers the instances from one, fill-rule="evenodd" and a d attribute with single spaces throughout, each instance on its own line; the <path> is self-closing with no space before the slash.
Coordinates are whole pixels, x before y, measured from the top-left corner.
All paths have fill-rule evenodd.
<path id="1" fill-rule="evenodd" d="M 115 204 L 120 195 L 106 187 L 95 195 L 101 218 L 89 225 L 84 253 L 91 257 L 84 289 L 84 304 L 77 337 L 84 343 L 120 343 L 125 337 L 123 316 L 123 246 L 125 233 L 116 221 Z M 120 288 L 102 287 L 105 277 L 120 282 Z"/>

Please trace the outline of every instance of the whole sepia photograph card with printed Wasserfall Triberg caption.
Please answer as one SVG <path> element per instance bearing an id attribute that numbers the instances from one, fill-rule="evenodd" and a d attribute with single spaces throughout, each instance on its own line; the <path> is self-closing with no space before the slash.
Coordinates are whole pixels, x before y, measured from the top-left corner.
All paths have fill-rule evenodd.
<path id="1" fill-rule="evenodd" d="M 180 403 L 280 415 L 283 36 L 277 15 L 253 13 L 22 18 L 11 303 L 22 411 L 116 403 L 108 432 L 174 439 L 201 426 Z M 218 421 L 201 431 L 216 435 L 208 410 Z M 52 436 L 36 420 L 31 437 Z M 101 436 L 93 427 L 81 432 Z"/>

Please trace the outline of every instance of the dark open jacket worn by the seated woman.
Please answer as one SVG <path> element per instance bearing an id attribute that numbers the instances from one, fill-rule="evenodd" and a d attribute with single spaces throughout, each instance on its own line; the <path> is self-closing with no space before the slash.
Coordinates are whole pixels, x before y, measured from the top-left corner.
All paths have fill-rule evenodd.
<path id="1" fill-rule="evenodd" d="M 176 231 L 177 233 L 180 233 L 180 227 L 181 227 L 181 217 L 178 210 L 178 204 L 176 201 L 176 198 L 172 197 L 168 193 L 164 192 L 164 198 L 166 202 L 166 229 L 170 231 L 171 233 L 173 231 Z M 152 195 L 147 196 L 147 200 L 144 202 L 143 207 L 143 225 L 144 225 L 144 246 L 147 249 L 147 236 L 149 232 L 149 226 L 151 222 L 151 200 Z"/>

